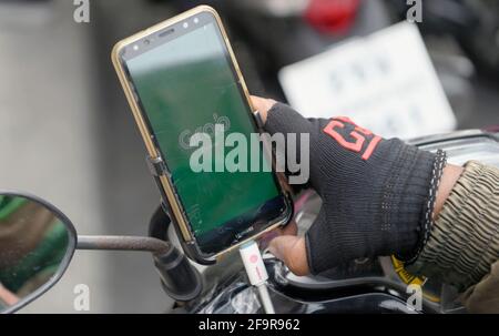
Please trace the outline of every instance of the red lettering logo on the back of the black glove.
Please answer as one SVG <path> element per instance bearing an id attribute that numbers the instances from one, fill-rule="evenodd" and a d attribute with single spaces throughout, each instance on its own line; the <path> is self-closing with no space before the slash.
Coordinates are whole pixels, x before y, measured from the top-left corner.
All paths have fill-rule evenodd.
<path id="1" fill-rule="evenodd" d="M 355 142 L 348 141 L 340 133 L 338 133 L 336 130 L 343 130 L 345 129 L 345 124 L 350 124 L 354 126 L 354 131 L 352 131 L 348 135 L 355 140 Z M 337 116 L 334 118 L 326 128 L 324 128 L 324 133 L 330 135 L 334 140 L 336 140 L 343 147 L 355 152 L 360 153 L 360 151 L 364 147 L 364 144 L 366 141 L 369 141 L 366 150 L 364 151 L 361 157 L 363 160 L 367 161 L 370 155 L 373 154 L 374 150 L 378 145 L 378 143 L 381 141 L 381 138 L 378 135 L 373 134 L 369 130 L 366 130 L 364 128 L 358 126 L 356 123 L 354 123 L 347 116 Z"/>

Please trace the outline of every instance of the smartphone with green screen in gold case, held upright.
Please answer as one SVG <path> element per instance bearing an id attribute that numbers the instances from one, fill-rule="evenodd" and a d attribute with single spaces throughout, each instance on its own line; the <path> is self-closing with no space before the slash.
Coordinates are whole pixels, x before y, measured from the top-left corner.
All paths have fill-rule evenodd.
<path id="1" fill-rule="evenodd" d="M 220 123 L 225 132 L 262 132 L 214 9 L 196 7 L 122 40 L 112 60 L 187 256 L 211 264 L 287 224 L 293 206 L 275 170 L 200 173 L 190 165 L 195 149 L 185 144 L 196 131 L 213 134 Z M 273 166 L 265 145 L 257 151 Z"/>

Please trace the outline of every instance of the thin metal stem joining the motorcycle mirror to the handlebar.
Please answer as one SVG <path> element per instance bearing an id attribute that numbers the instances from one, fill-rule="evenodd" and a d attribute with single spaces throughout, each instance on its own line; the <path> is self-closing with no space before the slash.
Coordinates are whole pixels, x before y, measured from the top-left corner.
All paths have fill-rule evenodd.
<path id="1" fill-rule="evenodd" d="M 77 250 L 142 251 L 162 255 L 172 248 L 167 242 L 141 236 L 86 236 L 79 235 Z"/>

